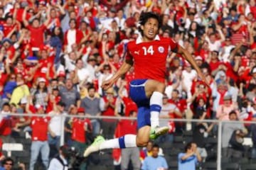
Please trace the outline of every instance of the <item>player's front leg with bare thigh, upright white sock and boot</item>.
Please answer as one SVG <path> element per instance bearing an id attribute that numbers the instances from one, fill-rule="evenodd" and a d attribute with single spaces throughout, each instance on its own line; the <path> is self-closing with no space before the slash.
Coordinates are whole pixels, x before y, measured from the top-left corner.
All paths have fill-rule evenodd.
<path id="1" fill-rule="evenodd" d="M 149 79 L 145 84 L 146 96 L 150 98 L 150 122 L 151 132 L 150 139 L 154 140 L 159 135 L 164 135 L 168 132 L 167 126 L 159 127 L 159 113 L 163 106 L 162 98 L 165 90 L 165 84 L 156 80 Z"/>

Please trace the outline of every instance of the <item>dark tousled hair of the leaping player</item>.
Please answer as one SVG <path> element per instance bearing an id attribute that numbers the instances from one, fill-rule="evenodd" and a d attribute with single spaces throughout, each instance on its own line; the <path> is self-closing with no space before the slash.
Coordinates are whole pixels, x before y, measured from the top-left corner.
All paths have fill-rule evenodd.
<path id="1" fill-rule="evenodd" d="M 159 16 L 159 14 L 157 13 L 154 13 L 154 12 L 142 12 L 141 15 L 139 16 L 139 33 L 141 33 L 143 35 L 143 30 L 141 28 L 141 26 L 144 26 L 146 21 L 149 20 L 149 18 L 155 18 L 158 23 L 159 23 L 159 26 L 158 26 L 158 29 L 161 28 L 161 24 L 162 24 L 162 18 L 161 16 Z"/>

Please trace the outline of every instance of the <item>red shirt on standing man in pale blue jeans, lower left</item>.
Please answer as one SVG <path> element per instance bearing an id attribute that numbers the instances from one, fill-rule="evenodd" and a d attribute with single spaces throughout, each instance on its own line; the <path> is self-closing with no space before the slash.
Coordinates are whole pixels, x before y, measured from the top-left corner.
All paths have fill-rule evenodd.
<path id="1" fill-rule="evenodd" d="M 32 141 L 48 140 L 48 123 L 50 118 L 33 117 L 31 119 Z"/>

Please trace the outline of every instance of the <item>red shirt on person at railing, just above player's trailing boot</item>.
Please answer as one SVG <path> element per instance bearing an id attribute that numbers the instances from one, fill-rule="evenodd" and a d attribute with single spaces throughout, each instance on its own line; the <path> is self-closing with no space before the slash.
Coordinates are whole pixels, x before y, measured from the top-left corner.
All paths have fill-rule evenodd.
<path id="1" fill-rule="evenodd" d="M 72 124 L 72 140 L 85 143 L 85 127 L 89 127 L 90 129 L 92 129 L 92 124 L 90 123 L 89 119 L 82 120 L 80 118 L 74 118 Z"/>

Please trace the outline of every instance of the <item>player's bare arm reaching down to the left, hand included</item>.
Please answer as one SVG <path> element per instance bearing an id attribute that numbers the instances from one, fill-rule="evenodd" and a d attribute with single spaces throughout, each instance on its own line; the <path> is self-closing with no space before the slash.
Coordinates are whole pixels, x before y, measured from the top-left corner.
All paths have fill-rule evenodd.
<path id="1" fill-rule="evenodd" d="M 105 80 L 102 82 L 102 89 L 107 90 L 110 87 L 113 86 L 114 82 L 117 81 L 123 74 L 129 71 L 129 69 L 132 67 L 132 60 L 126 60 L 122 66 L 117 70 L 117 72 L 114 74 L 111 79 Z"/>

